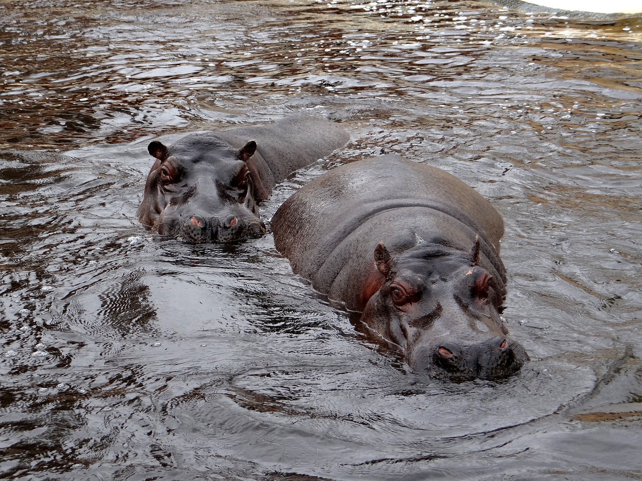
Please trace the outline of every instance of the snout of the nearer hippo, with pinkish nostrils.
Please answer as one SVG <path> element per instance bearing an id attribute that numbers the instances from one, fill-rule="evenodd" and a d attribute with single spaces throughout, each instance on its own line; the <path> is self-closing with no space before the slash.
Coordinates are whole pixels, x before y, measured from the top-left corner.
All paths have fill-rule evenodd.
<path id="1" fill-rule="evenodd" d="M 505 337 L 471 345 L 442 342 L 416 351 L 414 357 L 413 364 L 461 380 L 505 378 L 517 373 L 528 360 L 523 346 Z"/>

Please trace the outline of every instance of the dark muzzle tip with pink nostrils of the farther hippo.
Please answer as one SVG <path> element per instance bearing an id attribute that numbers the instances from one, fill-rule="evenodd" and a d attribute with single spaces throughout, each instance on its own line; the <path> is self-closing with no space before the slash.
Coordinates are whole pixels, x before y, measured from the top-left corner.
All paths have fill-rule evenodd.
<path id="1" fill-rule="evenodd" d="M 178 228 L 176 237 L 185 242 L 236 242 L 266 233 L 261 219 L 242 219 L 227 215 L 224 219 L 205 219 L 200 215 L 189 215 Z"/>

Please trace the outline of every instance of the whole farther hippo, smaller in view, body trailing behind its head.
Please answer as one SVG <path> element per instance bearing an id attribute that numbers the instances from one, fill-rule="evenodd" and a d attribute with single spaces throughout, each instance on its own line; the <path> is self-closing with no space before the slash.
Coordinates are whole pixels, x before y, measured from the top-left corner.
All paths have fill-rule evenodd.
<path id="1" fill-rule="evenodd" d="M 265 126 L 187 135 L 156 158 L 138 208 L 141 224 L 187 242 L 230 242 L 265 233 L 259 204 L 293 171 L 345 145 L 335 122 L 298 116 Z"/>

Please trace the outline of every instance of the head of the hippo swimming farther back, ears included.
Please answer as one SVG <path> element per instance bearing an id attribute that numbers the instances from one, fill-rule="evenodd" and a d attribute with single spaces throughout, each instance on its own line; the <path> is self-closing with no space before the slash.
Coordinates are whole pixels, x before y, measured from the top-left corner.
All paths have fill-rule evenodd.
<path id="1" fill-rule="evenodd" d="M 250 157 L 213 135 L 195 134 L 171 147 L 148 146 L 156 158 L 138 209 L 141 223 L 187 242 L 230 242 L 265 233 L 257 203 L 266 198 Z"/>

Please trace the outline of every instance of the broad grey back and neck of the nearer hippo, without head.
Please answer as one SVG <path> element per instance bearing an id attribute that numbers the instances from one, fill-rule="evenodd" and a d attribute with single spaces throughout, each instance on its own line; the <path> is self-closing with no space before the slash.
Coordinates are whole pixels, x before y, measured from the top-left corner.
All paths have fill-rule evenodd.
<path id="1" fill-rule="evenodd" d="M 361 286 L 379 242 L 393 255 L 419 242 L 469 251 L 478 236 L 480 264 L 504 291 L 498 212 L 455 176 L 398 155 L 342 165 L 311 181 L 279 208 L 272 230 L 295 273 L 354 310 L 363 308 Z"/>

